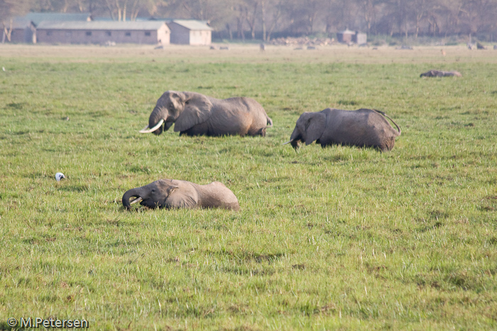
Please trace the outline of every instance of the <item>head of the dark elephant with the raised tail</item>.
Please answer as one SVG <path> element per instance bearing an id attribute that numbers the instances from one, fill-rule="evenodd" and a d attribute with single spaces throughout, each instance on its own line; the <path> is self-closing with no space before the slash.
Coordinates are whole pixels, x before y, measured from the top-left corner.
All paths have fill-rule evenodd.
<path id="1" fill-rule="evenodd" d="M 310 145 L 313 141 L 320 139 L 325 127 L 326 115 L 324 113 L 302 113 L 290 136 L 290 141 L 283 145 L 290 143 L 295 149 L 299 147 L 299 141 L 305 142 L 305 145 Z"/>

